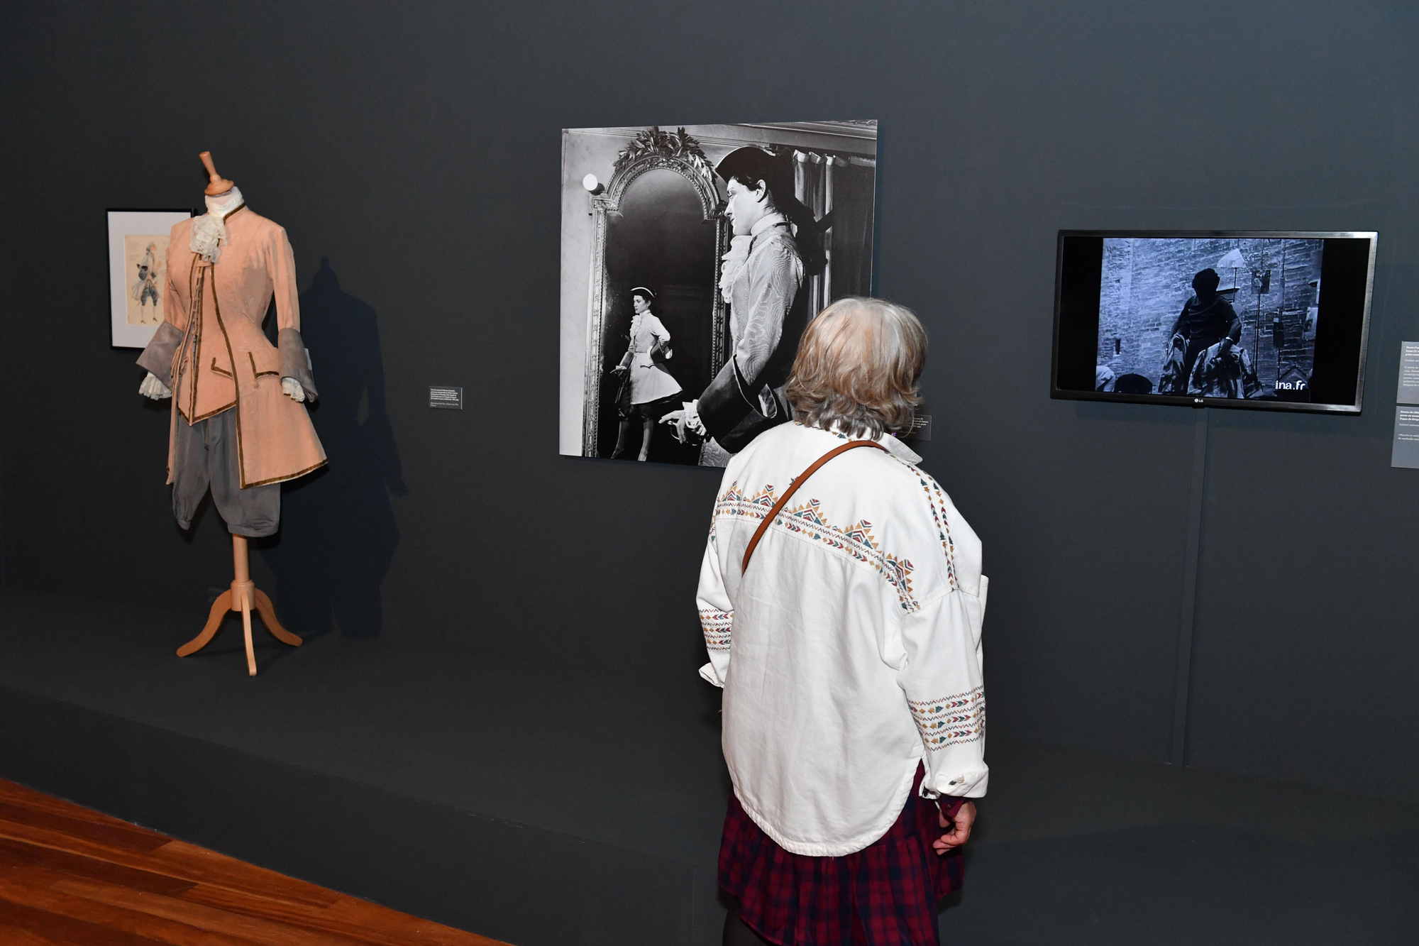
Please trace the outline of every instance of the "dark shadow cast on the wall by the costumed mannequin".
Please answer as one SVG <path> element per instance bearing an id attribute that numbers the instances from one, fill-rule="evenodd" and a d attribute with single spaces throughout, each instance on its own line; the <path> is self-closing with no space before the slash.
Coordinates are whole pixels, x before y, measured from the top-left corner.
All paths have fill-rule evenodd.
<path id="1" fill-rule="evenodd" d="M 375 310 L 341 291 L 328 259 L 301 294 L 301 335 L 319 401 L 311 409 L 329 464 L 285 484 L 281 531 L 261 548 L 277 614 L 295 634 L 372 638 L 380 582 L 399 547 L 390 493 L 407 493 L 385 406 Z"/>

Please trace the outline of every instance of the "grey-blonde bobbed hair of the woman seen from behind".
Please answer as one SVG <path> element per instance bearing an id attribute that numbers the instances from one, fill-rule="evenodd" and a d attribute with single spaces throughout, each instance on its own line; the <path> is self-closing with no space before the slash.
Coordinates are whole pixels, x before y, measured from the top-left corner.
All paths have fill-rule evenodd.
<path id="1" fill-rule="evenodd" d="M 799 423 L 854 437 L 911 429 L 927 330 L 905 305 L 849 295 L 809 322 L 788 398 Z"/>

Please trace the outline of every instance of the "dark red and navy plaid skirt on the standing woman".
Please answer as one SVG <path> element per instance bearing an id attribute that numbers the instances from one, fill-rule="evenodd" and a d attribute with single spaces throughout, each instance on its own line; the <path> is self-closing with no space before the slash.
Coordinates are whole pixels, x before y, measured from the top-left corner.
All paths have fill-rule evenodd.
<path id="1" fill-rule="evenodd" d="M 836 858 L 785 851 L 731 793 L 719 886 L 739 899 L 745 925 L 780 946 L 939 946 L 937 899 L 961 889 L 962 858 L 931 848 L 944 830 L 935 803 L 917 797 L 924 774 L 918 766 L 887 834 Z"/>

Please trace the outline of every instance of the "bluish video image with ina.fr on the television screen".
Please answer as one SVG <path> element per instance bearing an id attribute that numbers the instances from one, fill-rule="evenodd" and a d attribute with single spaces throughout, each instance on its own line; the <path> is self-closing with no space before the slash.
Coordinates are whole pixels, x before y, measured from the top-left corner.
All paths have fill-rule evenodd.
<path id="1" fill-rule="evenodd" d="M 1323 246 L 1105 239 L 1094 389 L 1308 401 Z"/>

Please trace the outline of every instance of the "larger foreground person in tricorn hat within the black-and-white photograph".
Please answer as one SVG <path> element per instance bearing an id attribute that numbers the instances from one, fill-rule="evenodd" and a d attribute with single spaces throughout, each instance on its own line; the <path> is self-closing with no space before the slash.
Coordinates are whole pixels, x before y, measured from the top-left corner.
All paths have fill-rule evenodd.
<path id="1" fill-rule="evenodd" d="M 728 192 L 725 214 L 735 249 L 721 278 L 729 300 L 734 351 L 710 386 L 661 418 L 684 442 L 704 437 L 701 463 L 722 466 L 755 436 L 792 418 L 783 396 L 799 337 L 807 325 L 803 254 L 785 213 L 795 203 L 793 169 L 761 148 L 731 151 L 715 173 Z"/>

